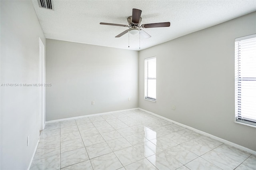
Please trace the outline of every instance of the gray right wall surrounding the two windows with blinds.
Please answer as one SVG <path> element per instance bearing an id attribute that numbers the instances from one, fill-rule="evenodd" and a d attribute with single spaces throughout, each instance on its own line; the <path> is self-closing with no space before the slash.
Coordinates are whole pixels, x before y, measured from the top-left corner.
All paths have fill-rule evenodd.
<path id="1" fill-rule="evenodd" d="M 256 12 L 139 52 L 139 107 L 256 150 L 256 128 L 234 123 L 234 40 Z M 156 102 L 144 100 L 144 58 L 156 56 Z M 176 110 L 172 110 L 172 105 Z"/>

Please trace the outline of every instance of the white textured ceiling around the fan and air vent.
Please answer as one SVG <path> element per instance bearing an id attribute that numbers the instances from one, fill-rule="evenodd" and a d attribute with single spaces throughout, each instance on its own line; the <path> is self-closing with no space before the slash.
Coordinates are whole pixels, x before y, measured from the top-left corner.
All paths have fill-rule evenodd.
<path id="1" fill-rule="evenodd" d="M 46 38 L 122 49 L 140 50 L 220 24 L 256 11 L 256 0 L 52 0 L 53 10 L 32 0 Z M 141 24 L 170 22 L 166 28 L 145 28 L 151 38 L 128 34 L 115 38 L 126 27 L 132 8 L 142 10 Z M 140 41 L 139 41 L 140 40 Z M 140 44 L 139 44 L 140 42 Z M 140 45 L 140 49 L 139 49 Z"/>

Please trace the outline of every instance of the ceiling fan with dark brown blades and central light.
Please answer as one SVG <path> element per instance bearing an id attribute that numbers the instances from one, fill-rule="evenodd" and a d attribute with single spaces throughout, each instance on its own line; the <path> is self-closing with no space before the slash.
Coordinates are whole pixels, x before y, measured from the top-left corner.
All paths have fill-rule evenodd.
<path id="1" fill-rule="evenodd" d="M 138 9 L 132 9 L 132 16 L 129 16 L 127 18 L 128 24 L 127 25 L 122 25 L 122 24 L 110 24 L 110 23 L 105 23 L 105 22 L 100 22 L 101 25 L 110 25 L 110 26 L 121 26 L 121 27 L 128 27 L 128 30 L 125 30 L 124 32 L 118 34 L 116 38 L 123 36 L 124 34 L 130 32 L 131 34 L 138 34 L 141 33 L 145 38 L 150 38 L 151 36 L 146 33 L 144 30 L 141 28 L 156 28 L 156 27 L 169 27 L 170 22 L 160 22 L 160 23 L 153 23 L 153 24 L 142 24 L 140 26 L 140 22 L 142 18 L 140 17 L 142 10 Z"/>

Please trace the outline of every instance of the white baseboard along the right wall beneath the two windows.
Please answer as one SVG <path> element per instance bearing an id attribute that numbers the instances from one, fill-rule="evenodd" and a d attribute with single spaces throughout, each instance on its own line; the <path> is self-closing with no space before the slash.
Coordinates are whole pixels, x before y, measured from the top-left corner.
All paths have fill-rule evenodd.
<path id="1" fill-rule="evenodd" d="M 199 133 L 199 134 L 203 134 L 203 135 L 205 135 L 205 136 L 208 136 L 208 137 L 210 137 L 210 138 L 213 138 L 213 139 L 215 139 L 215 140 L 218 140 L 218 141 L 223 142 L 223 143 L 225 143 L 225 144 L 228 144 L 228 145 L 230 145 L 230 146 L 236 147 L 236 148 L 238 148 L 238 149 L 240 149 L 240 150 L 244 150 L 244 151 L 246 151 L 246 152 L 249 152 L 249 153 L 251 153 L 251 154 L 256 155 L 256 151 L 255 151 L 255 150 L 251 150 L 251 149 L 249 149 L 249 148 L 246 148 L 246 147 L 241 146 L 241 145 L 239 145 L 239 144 L 235 144 L 235 143 L 230 142 L 230 141 L 228 141 L 228 140 L 219 138 L 219 137 L 217 137 L 217 136 L 214 136 L 214 135 L 212 135 L 212 134 L 209 134 L 209 133 L 206 133 L 206 132 L 204 132 L 204 131 L 198 130 L 198 129 L 196 129 L 196 128 L 192 128 L 192 127 L 189 127 L 189 126 L 187 126 L 187 125 L 183 125 L 183 124 L 181 124 L 181 123 L 172 121 L 171 119 L 168 119 L 168 118 L 166 118 L 166 117 L 162 117 L 162 116 L 157 115 L 157 114 L 155 114 L 155 113 L 152 113 L 152 112 L 150 112 L 150 111 L 147 111 L 147 110 L 144 110 L 144 109 L 141 109 L 141 108 L 139 108 L 139 109 L 140 109 L 141 111 L 144 111 L 144 112 L 149 113 L 149 114 L 151 114 L 151 115 L 154 115 L 154 116 L 156 116 L 156 117 L 160 117 L 160 118 L 162 118 L 162 119 L 164 119 L 164 120 L 166 120 L 166 121 L 170 121 L 170 122 L 175 123 L 175 124 L 177 124 L 177 125 L 180 125 L 180 126 L 182 126 L 182 127 L 185 127 L 185 128 L 190 129 L 190 130 L 193 130 L 193 131 L 195 131 L 195 132 L 197 132 L 197 133 Z"/>

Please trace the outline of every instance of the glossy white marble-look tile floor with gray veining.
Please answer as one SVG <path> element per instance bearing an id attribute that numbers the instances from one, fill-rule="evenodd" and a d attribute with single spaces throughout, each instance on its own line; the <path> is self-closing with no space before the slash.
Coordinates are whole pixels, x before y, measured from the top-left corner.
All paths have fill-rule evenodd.
<path id="1" fill-rule="evenodd" d="M 46 124 L 31 170 L 256 170 L 256 156 L 140 110 Z"/>

